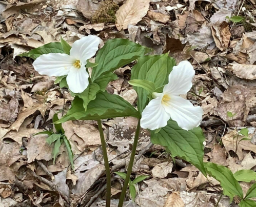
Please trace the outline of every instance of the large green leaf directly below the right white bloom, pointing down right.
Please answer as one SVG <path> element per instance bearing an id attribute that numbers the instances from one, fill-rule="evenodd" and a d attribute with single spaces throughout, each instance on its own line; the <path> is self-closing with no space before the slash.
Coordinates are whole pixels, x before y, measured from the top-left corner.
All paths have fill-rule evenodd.
<path id="1" fill-rule="evenodd" d="M 169 120 L 159 133 L 151 131 L 151 142 L 160 144 L 171 152 L 173 157 L 180 157 L 195 165 L 205 176 L 204 142 L 205 137 L 200 127 L 192 130 L 181 129 L 176 121 Z"/>

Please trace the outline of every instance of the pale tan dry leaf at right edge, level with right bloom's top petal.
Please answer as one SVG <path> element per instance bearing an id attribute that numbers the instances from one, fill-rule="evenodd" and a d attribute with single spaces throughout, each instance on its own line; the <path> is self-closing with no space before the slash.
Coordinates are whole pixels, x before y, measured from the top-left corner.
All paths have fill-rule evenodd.
<path id="1" fill-rule="evenodd" d="M 240 78 L 248 80 L 256 79 L 256 65 L 230 64 L 228 69 Z"/>

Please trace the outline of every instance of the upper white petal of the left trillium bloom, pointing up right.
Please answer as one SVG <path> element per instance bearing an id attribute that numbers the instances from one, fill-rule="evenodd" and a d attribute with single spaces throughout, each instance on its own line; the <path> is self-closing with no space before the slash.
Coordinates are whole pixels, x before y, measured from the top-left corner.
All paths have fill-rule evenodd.
<path id="1" fill-rule="evenodd" d="M 86 60 L 94 56 L 101 43 L 101 38 L 95 35 L 82 37 L 74 42 L 70 50 L 70 55 L 80 60 L 83 65 L 86 65 Z"/>

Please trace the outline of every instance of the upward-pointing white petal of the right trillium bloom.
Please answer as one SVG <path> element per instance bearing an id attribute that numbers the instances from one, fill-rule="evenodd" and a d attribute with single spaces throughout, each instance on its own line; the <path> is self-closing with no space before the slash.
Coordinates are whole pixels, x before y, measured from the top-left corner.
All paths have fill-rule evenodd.
<path id="1" fill-rule="evenodd" d="M 192 87 L 194 77 L 193 66 L 189 61 L 181 61 L 178 66 L 174 66 L 169 74 L 169 82 L 164 87 L 164 93 L 172 95 L 186 94 Z"/>

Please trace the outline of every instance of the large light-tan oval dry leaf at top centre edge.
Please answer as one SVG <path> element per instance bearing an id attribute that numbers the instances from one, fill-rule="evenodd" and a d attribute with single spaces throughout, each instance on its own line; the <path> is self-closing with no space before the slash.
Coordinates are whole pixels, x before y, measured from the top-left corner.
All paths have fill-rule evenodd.
<path id="1" fill-rule="evenodd" d="M 120 31 L 127 29 L 128 25 L 136 25 L 142 17 L 147 14 L 150 0 L 127 0 L 119 10 L 116 16 L 116 28 Z"/>

